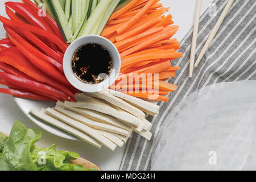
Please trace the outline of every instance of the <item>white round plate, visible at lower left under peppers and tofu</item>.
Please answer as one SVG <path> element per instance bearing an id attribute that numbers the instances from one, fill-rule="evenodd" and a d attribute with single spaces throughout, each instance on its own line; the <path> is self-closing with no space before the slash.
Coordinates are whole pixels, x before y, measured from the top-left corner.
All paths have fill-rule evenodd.
<path id="1" fill-rule="evenodd" d="M 71 140 L 80 140 L 79 138 L 61 130 L 58 129 L 55 126 L 49 125 L 48 123 L 42 121 L 39 118 L 34 117 L 29 113 L 30 109 L 34 108 L 36 110 L 41 110 L 42 108 L 47 109 L 48 107 L 54 107 L 56 104 L 55 102 L 49 102 L 49 101 L 34 101 L 34 100 L 27 100 L 23 98 L 17 98 L 14 97 L 14 101 L 19 106 L 20 110 L 23 111 L 24 114 L 27 115 L 28 118 L 31 119 L 32 122 L 34 122 L 36 125 L 42 127 L 42 129 L 49 131 L 49 133 L 52 133 L 53 135 L 57 135 L 59 137 L 71 139 Z"/>

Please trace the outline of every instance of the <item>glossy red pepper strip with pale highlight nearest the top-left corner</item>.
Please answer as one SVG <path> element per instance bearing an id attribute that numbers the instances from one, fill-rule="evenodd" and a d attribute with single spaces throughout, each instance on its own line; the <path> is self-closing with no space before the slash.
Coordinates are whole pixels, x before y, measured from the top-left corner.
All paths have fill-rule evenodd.
<path id="1" fill-rule="evenodd" d="M 26 19 L 28 23 L 36 27 L 43 28 L 43 30 L 51 32 L 52 34 L 55 34 L 55 32 L 52 30 L 49 24 L 42 17 L 40 17 L 38 13 L 35 13 L 33 10 L 31 10 L 23 3 L 9 1 L 6 2 L 5 5 L 16 11 L 16 13 L 18 13 L 20 16 Z M 53 44 L 52 42 L 49 42 L 49 44 L 54 50 L 57 50 L 55 44 Z"/>

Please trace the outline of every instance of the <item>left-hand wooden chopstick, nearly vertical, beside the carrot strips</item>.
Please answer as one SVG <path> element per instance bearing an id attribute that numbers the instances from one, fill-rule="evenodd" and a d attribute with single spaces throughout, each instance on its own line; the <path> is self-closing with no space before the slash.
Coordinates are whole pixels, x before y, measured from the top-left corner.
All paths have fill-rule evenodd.
<path id="1" fill-rule="evenodd" d="M 193 28 L 193 39 L 192 39 L 192 45 L 191 45 L 189 77 L 192 77 L 192 75 L 193 75 L 193 69 L 194 69 L 194 63 L 195 63 L 196 42 L 197 42 L 197 33 L 198 33 L 198 27 L 199 27 L 201 4 L 202 4 L 202 0 L 197 0 L 195 24 L 194 24 L 194 28 Z"/>

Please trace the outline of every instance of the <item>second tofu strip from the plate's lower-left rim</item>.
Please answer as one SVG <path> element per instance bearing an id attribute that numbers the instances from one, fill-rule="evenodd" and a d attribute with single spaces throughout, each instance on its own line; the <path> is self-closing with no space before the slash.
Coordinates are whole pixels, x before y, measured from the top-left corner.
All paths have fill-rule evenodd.
<path id="1" fill-rule="evenodd" d="M 75 127 L 77 130 L 82 131 L 83 133 L 90 135 L 90 137 L 93 137 L 94 139 L 98 140 L 98 142 L 102 143 L 104 146 L 108 147 L 110 150 L 114 151 L 117 147 L 113 142 L 111 142 L 106 137 L 103 137 L 102 135 L 98 134 L 96 131 L 91 129 L 89 126 L 86 126 L 80 122 L 77 122 L 69 117 L 66 117 L 65 115 L 57 112 L 56 110 L 53 110 L 51 108 L 46 109 L 46 113 L 51 115 L 52 117 L 55 117 L 59 119 L 60 121 L 63 121 L 67 123 L 68 125 Z"/>

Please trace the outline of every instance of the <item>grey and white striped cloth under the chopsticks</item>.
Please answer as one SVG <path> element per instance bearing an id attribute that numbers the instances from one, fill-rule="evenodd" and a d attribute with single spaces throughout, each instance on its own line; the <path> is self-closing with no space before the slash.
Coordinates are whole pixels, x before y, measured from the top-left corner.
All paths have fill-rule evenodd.
<path id="1" fill-rule="evenodd" d="M 210 31 L 220 17 L 226 0 L 213 1 L 213 8 L 204 12 L 200 18 L 199 35 L 197 39 L 196 58 L 206 42 Z M 145 140 L 138 134 L 133 134 L 127 143 L 120 170 L 150 170 L 151 154 L 154 144 L 160 134 L 160 127 L 167 115 L 188 94 L 204 86 L 224 81 L 256 80 L 255 54 L 255 0 L 235 0 L 229 14 L 222 22 L 212 45 L 195 69 L 193 77 L 188 77 L 189 57 L 191 52 L 192 28 L 181 41 L 183 58 L 172 63 L 179 66 L 177 77 L 168 82 L 178 85 L 179 89 L 171 93 L 169 102 L 159 102 L 160 113 L 156 117 L 148 117 L 153 123 L 152 139 Z M 156 138 L 157 137 L 157 138 Z"/>

